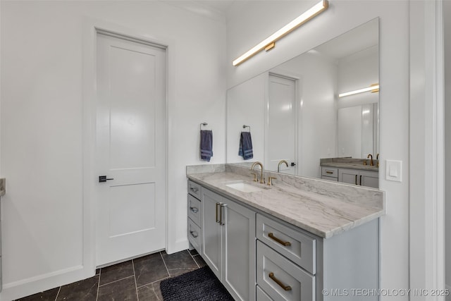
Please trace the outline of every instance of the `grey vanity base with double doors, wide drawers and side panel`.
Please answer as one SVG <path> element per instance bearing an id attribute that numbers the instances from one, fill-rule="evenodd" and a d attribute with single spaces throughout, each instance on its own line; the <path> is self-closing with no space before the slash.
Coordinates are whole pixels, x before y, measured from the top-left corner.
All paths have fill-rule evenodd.
<path id="1" fill-rule="evenodd" d="M 378 300 L 378 219 L 323 238 L 221 190 L 199 191 L 199 253 L 235 300 Z"/>

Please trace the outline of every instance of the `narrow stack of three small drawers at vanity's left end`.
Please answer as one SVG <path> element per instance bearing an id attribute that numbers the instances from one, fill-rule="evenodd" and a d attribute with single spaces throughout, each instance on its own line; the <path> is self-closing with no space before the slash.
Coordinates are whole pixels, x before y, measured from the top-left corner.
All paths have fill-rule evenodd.
<path id="1" fill-rule="evenodd" d="M 201 186 L 188 180 L 188 240 L 200 254 L 202 243 L 201 231 Z"/>

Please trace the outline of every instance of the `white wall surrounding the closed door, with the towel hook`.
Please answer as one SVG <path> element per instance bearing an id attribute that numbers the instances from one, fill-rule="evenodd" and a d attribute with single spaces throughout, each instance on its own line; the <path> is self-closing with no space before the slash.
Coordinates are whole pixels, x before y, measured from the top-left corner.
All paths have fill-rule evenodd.
<path id="1" fill-rule="evenodd" d="M 225 161 L 226 25 L 161 1 L 1 1 L 1 300 L 82 278 L 82 51 L 85 17 L 168 49 L 168 252 L 187 247 L 185 166 L 199 123 Z M 85 245 L 94 252 L 93 245 Z"/>

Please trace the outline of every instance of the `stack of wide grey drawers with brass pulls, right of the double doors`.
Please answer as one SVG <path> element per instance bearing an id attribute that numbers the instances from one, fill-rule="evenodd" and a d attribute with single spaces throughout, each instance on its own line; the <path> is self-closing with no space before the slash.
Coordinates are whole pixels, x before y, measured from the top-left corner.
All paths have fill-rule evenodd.
<path id="1" fill-rule="evenodd" d="M 256 234 L 257 287 L 270 300 L 314 301 L 316 238 L 261 214 Z"/>

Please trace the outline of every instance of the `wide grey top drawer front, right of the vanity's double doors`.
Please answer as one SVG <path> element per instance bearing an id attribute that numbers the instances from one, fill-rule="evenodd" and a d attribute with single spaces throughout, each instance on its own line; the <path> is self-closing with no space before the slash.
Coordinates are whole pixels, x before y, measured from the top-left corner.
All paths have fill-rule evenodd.
<path id="1" fill-rule="evenodd" d="M 316 274 L 316 239 L 257 214 L 257 238 L 283 256 Z"/>

